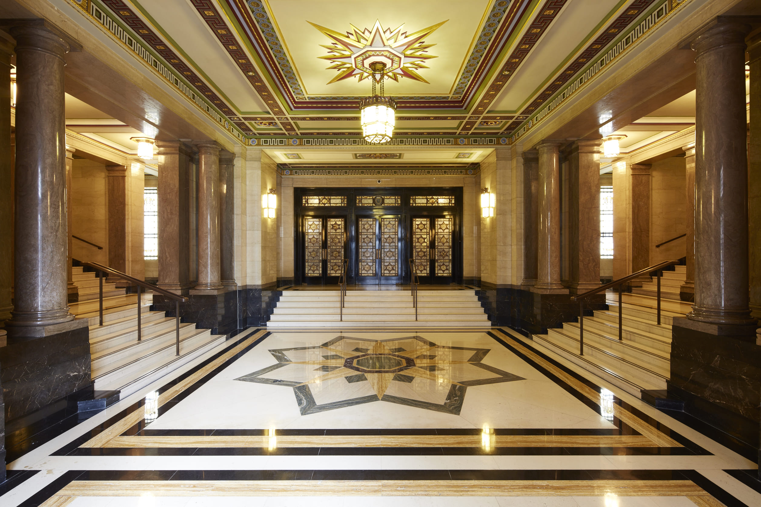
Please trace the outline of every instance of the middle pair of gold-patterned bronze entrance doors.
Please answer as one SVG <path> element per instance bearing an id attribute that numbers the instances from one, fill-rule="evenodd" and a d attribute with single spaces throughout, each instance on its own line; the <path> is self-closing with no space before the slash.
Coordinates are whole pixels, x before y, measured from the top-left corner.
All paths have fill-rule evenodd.
<path id="1" fill-rule="evenodd" d="M 400 215 L 357 216 L 357 284 L 401 282 L 401 227 Z"/>

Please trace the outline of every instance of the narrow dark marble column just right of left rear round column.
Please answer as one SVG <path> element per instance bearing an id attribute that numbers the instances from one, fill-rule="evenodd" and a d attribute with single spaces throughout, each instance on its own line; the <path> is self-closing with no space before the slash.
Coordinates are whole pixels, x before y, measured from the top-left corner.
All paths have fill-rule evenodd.
<path id="1" fill-rule="evenodd" d="M 234 267 L 234 223 L 235 223 L 235 154 L 222 150 L 219 152 L 219 261 L 221 283 L 227 290 L 233 290 L 235 284 Z"/>

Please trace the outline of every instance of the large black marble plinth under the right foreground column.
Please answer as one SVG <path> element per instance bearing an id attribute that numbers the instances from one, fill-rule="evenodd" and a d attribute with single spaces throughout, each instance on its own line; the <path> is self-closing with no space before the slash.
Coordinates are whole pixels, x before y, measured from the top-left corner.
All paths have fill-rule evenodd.
<path id="1" fill-rule="evenodd" d="M 756 336 L 717 336 L 671 328 L 669 395 L 705 423 L 759 448 L 761 347 Z"/>

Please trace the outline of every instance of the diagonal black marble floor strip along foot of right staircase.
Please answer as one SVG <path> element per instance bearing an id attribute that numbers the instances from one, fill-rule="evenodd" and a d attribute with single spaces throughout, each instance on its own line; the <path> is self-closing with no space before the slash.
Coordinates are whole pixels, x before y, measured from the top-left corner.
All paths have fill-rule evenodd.
<path id="1" fill-rule="evenodd" d="M 505 336 L 510 337 L 511 340 L 516 340 L 515 337 L 508 334 L 504 329 L 496 329 L 495 331 L 499 331 L 501 334 L 505 334 Z M 579 391 L 577 391 L 572 385 L 569 385 L 567 382 L 563 381 L 562 379 L 559 379 L 556 375 L 552 374 L 552 372 L 549 372 L 547 369 L 545 369 L 543 366 L 541 366 L 539 363 L 537 363 L 534 360 L 531 360 L 530 357 L 526 356 L 524 353 L 521 353 L 520 350 L 517 350 L 515 347 L 512 347 L 510 344 L 502 340 L 500 337 L 498 337 L 496 334 L 494 334 L 492 331 L 487 331 L 486 334 L 494 338 L 495 341 L 497 341 L 499 344 L 501 344 L 503 347 L 510 350 L 512 353 L 514 353 L 516 356 L 520 357 L 521 360 L 524 360 L 526 363 L 528 363 L 533 368 L 539 370 L 543 375 L 545 375 L 547 378 L 552 380 L 552 382 L 555 382 L 557 385 L 559 385 L 561 388 L 565 389 L 568 393 L 573 395 L 575 398 L 577 398 L 582 403 L 586 404 L 587 407 L 591 407 L 592 410 L 597 412 L 597 414 L 602 414 L 602 407 L 600 404 L 595 403 L 594 401 L 591 401 L 586 396 L 582 395 Z M 530 344 L 527 344 L 525 342 L 519 341 L 521 345 L 524 347 L 527 347 L 530 349 L 533 353 L 537 354 L 537 356 L 540 356 L 543 360 L 546 360 L 548 363 L 552 364 L 552 366 L 556 366 L 557 368 L 561 369 L 563 372 L 567 373 L 568 375 L 571 375 L 574 379 L 578 380 L 579 382 L 582 382 L 584 385 L 587 385 L 590 388 L 593 388 L 597 392 L 601 392 L 603 388 L 600 387 L 600 385 L 595 384 L 591 380 L 585 378 L 583 375 L 580 375 L 578 372 L 573 371 L 572 369 L 568 368 L 568 366 L 565 366 L 562 363 L 559 363 L 558 361 L 552 359 L 552 357 L 547 356 L 545 353 L 540 352 L 539 350 L 532 347 Z M 661 421 L 654 419 L 654 417 L 649 416 L 648 414 L 645 414 L 642 412 L 642 410 L 639 410 L 636 407 L 633 407 L 632 405 L 626 403 L 626 401 L 623 401 L 622 399 L 618 398 L 617 396 L 613 396 L 613 403 L 619 405 L 620 407 L 628 410 L 631 414 L 633 414 L 635 417 L 638 417 L 640 420 L 642 420 L 645 423 L 650 424 L 654 427 L 654 429 L 658 429 L 661 433 L 664 433 L 664 435 L 670 436 L 672 439 L 679 442 L 681 445 L 684 445 L 685 448 L 689 449 L 690 452 L 693 452 L 693 454 L 696 455 L 713 455 L 712 452 L 709 452 L 705 448 L 702 448 L 700 445 L 696 444 L 696 442 L 693 442 L 692 440 L 686 438 L 686 436 L 681 435 L 677 431 L 674 431 L 673 429 L 670 429 L 670 427 L 666 426 L 664 423 L 661 423 Z M 616 426 L 619 427 L 627 427 L 628 425 L 624 423 L 623 421 L 619 420 L 618 418 L 613 419 L 613 423 L 616 424 Z M 639 435 L 640 433 L 636 432 L 635 429 L 630 428 L 629 430 L 633 433 L 627 433 L 627 434 L 633 434 L 633 435 Z"/>

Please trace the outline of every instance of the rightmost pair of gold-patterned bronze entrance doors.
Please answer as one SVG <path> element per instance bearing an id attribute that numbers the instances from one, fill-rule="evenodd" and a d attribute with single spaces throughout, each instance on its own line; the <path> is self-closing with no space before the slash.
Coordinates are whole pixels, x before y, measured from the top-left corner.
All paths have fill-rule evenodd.
<path id="1" fill-rule="evenodd" d="M 454 216 L 412 215 L 410 258 L 422 284 L 451 284 L 454 280 Z"/>

